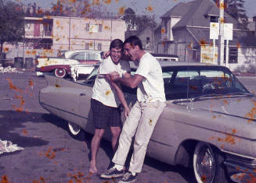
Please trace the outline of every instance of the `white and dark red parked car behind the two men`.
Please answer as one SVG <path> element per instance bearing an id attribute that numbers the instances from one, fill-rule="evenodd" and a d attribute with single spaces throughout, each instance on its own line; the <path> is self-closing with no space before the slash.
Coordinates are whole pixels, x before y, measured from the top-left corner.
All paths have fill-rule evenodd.
<path id="1" fill-rule="evenodd" d="M 36 71 L 38 76 L 43 75 L 44 72 L 53 72 L 54 76 L 65 78 L 71 73 L 70 65 L 94 65 L 100 61 L 100 51 L 66 51 L 60 57 L 38 58 Z"/>

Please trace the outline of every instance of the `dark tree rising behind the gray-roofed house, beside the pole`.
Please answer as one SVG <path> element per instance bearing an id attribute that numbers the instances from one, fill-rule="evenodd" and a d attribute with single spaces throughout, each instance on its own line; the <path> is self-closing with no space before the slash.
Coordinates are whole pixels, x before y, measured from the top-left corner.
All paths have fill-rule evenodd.
<path id="1" fill-rule="evenodd" d="M 219 0 L 214 0 L 214 2 L 218 4 Z M 240 20 L 243 26 L 246 26 L 248 17 L 243 6 L 244 2 L 244 0 L 224 0 L 225 12 L 229 13 L 234 19 Z"/>

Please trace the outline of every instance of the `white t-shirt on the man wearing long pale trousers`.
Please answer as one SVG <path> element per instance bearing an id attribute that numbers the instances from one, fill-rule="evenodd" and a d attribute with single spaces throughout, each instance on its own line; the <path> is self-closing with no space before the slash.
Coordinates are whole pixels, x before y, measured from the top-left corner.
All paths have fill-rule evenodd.
<path id="1" fill-rule="evenodd" d="M 135 74 L 143 76 L 137 89 L 139 102 L 165 102 L 163 73 L 159 62 L 150 53 L 146 53 L 139 61 Z"/>

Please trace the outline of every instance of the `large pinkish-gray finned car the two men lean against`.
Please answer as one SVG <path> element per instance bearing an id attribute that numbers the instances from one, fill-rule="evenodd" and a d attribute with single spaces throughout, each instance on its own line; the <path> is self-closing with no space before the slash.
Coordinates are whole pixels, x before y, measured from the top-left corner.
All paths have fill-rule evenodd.
<path id="1" fill-rule="evenodd" d="M 167 106 L 157 122 L 147 155 L 167 164 L 193 167 L 197 182 L 224 183 L 255 174 L 256 99 L 219 65 L 160 62 Z M 132 74 L 135 65 L 131 64 Z M 90 99 L 97 68 L 77 82 L 46 76 L 42 107 L 67 120 L 70 134 L 94 132 Z M 128 104 L 136 90 L 123 86 Z M 124 115 L 122 114 L 122 121 Z M 110 139 L 110 132 L 104 136 Z"/>

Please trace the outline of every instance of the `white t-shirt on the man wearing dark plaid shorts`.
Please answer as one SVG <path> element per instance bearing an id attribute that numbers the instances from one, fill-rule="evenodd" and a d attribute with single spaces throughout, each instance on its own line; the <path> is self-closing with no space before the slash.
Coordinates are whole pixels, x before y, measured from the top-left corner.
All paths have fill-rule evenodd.
<path id="1" fill-rule="evenodd" d="M 100 63 L 96 82 L 92 88 L 92 98 L 110 107 L 118 107 L 121 102 L 117 97 L 116 90 L 112 90 L 110 83 L 108 83 L 105 78 L 100 77 L 99 75 L 109 74 L 110 72 L 114 71 L 118 72 L 120 77 L 123 77 L 124 73 L 130 72 L 131 69 L 129 63 L 123 60 L 120 60 L 120 62 L 115 65 L 109 56 Z"/>

